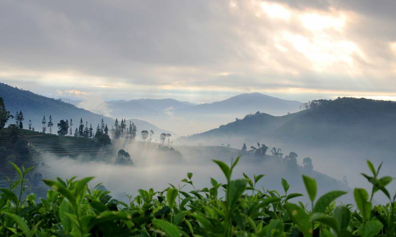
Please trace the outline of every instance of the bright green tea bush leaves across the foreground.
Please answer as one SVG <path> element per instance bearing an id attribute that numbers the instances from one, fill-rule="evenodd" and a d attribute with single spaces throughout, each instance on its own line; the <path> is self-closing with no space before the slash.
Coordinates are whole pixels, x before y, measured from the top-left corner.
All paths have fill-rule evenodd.
<path id="1" fill-rule="evenodd" d="M 0 236 L 26 237 L 391 237 L 395 236 L 395 201 L 373 208 L 369 193 L 354 190 L 355 205 L 336 206 L 343 191 L 331 191 L 316 199 L 316 182 L 303 176 L 312 209 L 285 194 L 258 190 L 264 175 L 232 179 L 239 158 L 230 165 L 214 160 L 226 183 L 211 178 L 211 187 L 196 189 L 193 173 L 183 186 L 163 191 L 138 190 L 129 203 L 112 199 L 99 185 L 89 188 L 93 177 L 44 180 L 51 187 L 46 199 L 23 196 L 24 179 L 31 170 L 11 163 L 18 179 L 0 193 Z M 379 169 L 368 163 L 373 177 Z M 366 176 L 365 176 L 366 177 Z M 379 179 L 380 180 L 380 179 Z M 370 180 L 369 180 L 370 181 Z M 384 183 L 371 182 L 374 187 Z M 188 185 L 193 190 L 185 191 Z M 18 187 L 20 190 L 18 190 Z M 220 192 L 222 189 L 222 192 Z M 382 190 L 374 188 L 374 191 Z M 250 194 L 250 191 L 251 194 Z M 386 190 L 388 191 L 388 190 Z M 384 191 L 383 191 L 384 192 Z M 224 196 L 218 197 L 219 193 Z M 385 193 L 385 192 L 384 192 Z M 315 202 L 316 200 L 316 202 Z"/>

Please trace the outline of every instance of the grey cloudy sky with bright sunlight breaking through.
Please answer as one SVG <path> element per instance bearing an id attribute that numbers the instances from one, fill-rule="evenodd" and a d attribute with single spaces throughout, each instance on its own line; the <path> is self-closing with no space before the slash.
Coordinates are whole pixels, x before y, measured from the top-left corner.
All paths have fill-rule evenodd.
<path id="1" fill-rule="evenodd" d="M 0 81 L 46 96 L 396 100 L 395 0 L 1 0 Z"/>

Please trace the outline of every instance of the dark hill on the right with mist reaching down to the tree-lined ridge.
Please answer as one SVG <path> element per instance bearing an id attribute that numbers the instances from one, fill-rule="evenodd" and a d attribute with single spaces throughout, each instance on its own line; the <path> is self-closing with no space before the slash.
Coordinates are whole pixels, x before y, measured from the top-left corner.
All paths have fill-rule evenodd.
<path id="1" fill-rule="evenodd" d="M 229 145 L 241 149 L 257 142 L 298 154 L 298 162 L 310 157 L 315 170 L 343 179 L 351 186 L 367 185 L 351 170 L 367 170 L 366 160 L 377 166 L 384 162 L 382 174 L 393 175 L 396 167 L 396 102 L 365 98 L 317 100 L 308 109 L 284 116 L 266 113 L 175 141 L 179 145 Z M 366 186 L 368 188 L 368 186 Z M 396 188 L 396 185 L 392 188 Z"/>

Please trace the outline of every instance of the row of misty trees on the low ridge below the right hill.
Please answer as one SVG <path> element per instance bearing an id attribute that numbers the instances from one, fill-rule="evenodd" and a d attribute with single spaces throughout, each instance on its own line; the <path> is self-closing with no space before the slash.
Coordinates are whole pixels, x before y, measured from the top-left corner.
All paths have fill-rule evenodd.
<path id="1" fill-rule="evenodd" d="M 246 144 L 244 143 L 241 150 L 243 152 L 252 153 L 256 157 L 264 158 L 265 155 L 267 154 L 268 147 L 265 144 L 257 143 L 257 148 L 254 147 L 254 146 L 251 146 L 250 150 L 247 151 Z M 291 153 L 289 153 L 289 155 L 286 155 L 285 158 L 284 158 L 283 157 L 284 154 L 282 153 L 282 149 L 281 148 L 277 149 L 277 148 L 274 147 L 270 151 L 271 151 L 273 156 L 285 160 L 285 162 L 287 164 L 297 165 L 297 157 L 298 157 L 297 153 L 291 152 Z M 304 169 L 306 169 L 307 171 L 313 170 L 312 159 L 309 158 L 309 157 L 303 158 L 302 165 L 303 165 Z"/>

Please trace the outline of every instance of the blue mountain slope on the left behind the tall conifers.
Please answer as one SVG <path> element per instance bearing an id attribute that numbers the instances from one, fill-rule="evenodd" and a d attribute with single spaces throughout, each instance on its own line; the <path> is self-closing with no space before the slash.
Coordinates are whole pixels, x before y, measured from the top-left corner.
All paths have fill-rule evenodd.
<path id="1" fill-rule="evenodd" d="M 25 120 L 23 121 L 24 127 L 27 128 L 28 121 L 32 121 L 32 125 L 36 131 L 41 131 L 41 120 L 45 115 L 47 119 L 51 115 L 54 123 L 53 133 L 57 131 L 57 123 L 61 119 L 73 119 L 73 130 L 80 122 L 80 118 L 83 118 L 84 123 L 87 121 L 88 124 L 92 124 L 93 128 L 96 129 L 96 125 L 101 119 L 111 128 L 114 124 L 114 119 L 105 117 L 96 113 L 92 113 L 83 108 L 78 108 L 71 103 L 63 102 L 61 99 L 48 98 L 42 95 L 35 94 L 28 90 L 21 90 L 16 87 L 9 86 L 4 83 L 0 83 L 0 96 L 3 97 L 6 109 L 15 115 L 17 111 L 22 111 Z M 129 118 L 129 117 L 125 117 Z M 156 134 L 170 133 L 167 130 L 162 130 L 155 125 L 139 119 L 130 119 L 136 124 L 138 131 L 140 130 L 153 130 Z M 11 120 L 11 123 L 13 120 Z M 48 130 L 48 128 L 47 128 Z M 74 131 L 73 131 L 74 132 Z"/>

